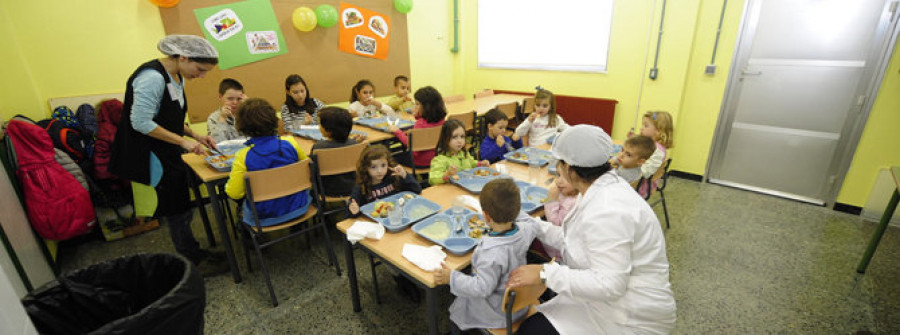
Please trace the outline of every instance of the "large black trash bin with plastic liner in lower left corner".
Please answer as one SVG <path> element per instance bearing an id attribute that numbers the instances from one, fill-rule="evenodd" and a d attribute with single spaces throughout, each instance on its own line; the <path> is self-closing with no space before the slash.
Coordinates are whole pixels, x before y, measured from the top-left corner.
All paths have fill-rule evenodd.
<path id="1" fill-rule="evenodd" d="M 65 274 L 22 304 L 41 334 L 203 334 L 206 288 L 186 258 L 138 254 Z"/>

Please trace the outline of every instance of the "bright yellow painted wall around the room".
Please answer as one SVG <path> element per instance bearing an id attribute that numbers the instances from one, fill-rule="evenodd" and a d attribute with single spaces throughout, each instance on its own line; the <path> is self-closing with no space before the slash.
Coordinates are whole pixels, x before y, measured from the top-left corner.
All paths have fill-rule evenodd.
<path id="1" fill-rule="evenodd" d="M 677 157 L 673 169 L 703 174 L 724 95 L 744 1 L 729 1 L 715 75 L 709 63 L 721 1 L 676 0 L 666 8 L 659 78 L 646 78 L 653 64 L 662 1 L 616 1 L 604 74 L 514 71 L 477 67 L 477 2 L 460 0 L 460 52 L 451 53 L 453 1 L 418 1 L 409 14 L 413 87 L 435 86 L 445 95 L 482 88 L 531 91 L 541 85 L 558 94 L 619 101 L 613 136 L 624 137 L 640 113 L 660 109 L 675 116 Z M 76 23 L 72 18 L 81 18 Z M 6 64 L 0 117 L 49 114 L 51 97 L 121 92 L 134 67 L 158 57 L 164 35 L 156 7 L 148 1 L 3 1 L 0 50 Z M 63 24 L 53 24 L 63 22 Z M 528 48 L 540 47 L 539 41 Z M 838 201 L 862 206 L 877 170 L 900 164 L 898 56 L 885 78 Z M 640 96 L 639 96 L 640 94 Z M 639 121 L 637 121 L 639 123 Z M 203 124 L 195 125 L 203 130 Z"/>

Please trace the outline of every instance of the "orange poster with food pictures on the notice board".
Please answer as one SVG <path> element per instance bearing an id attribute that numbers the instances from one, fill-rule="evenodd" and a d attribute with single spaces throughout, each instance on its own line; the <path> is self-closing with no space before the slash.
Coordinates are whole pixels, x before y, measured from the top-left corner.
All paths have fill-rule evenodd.
<path id="1" fill-rule="evenodd" d="M 390 25 L 391 19 L 387 15 L 341 2 L 338 49 L 363 57 L 386 59 Z"/>

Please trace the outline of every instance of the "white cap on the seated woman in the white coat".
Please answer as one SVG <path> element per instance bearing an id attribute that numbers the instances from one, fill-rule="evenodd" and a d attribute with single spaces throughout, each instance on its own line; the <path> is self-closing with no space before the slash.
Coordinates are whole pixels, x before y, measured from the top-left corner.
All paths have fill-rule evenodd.
<path id="1" fill-rule="evenodd" d="M 613 144 L 603 128 L 580 124 L 559 134 L 550 151 L 571 166 L 598 167 L 612 157 Z"/>

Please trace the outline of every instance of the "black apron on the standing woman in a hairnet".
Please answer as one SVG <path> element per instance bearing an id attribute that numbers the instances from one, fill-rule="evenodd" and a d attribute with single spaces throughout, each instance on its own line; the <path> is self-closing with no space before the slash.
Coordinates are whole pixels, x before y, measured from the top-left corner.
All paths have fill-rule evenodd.
<path id="1" fill-rule="evenodd" d="M 159 113 L 153 118 L 160 127 L 184 136 L 184 117 L 187 112 L 187 99 L 182 94 L 184 107 L 173 100 L 169 94 L 168 85 L 171 83 L 166 69 L 159 60 L 152 60 L 142 64 L 131 77 L 125 87 L 125 101 L 122 107 L 122 120 L 116 130 L 116 138 L 112 145 L 110 158 L 110 172 L 128 179 L 132 182 L 151 185 L 150 180 L 150 155 L 159 158 L 162 165 L 162 178 L 154 186 L 156 189 L 157 207 L 154 216 L 166 217 L 186 212 L 191 207 L 188 190 L 189 171 L 187 165 L 181 159 L 184 150 L 176 145 L 160 141 L 148 135 L 144 135 L 131 126 L 131 107 L 134 104 L 134 89 L 132 84 L 138 73 L 145 69 L 152 69 L 162 74 L 166 81 L 163 88 L 162 101 L 160 101 Z M 184 82 L 184 78 L 181 78 Z"/>

